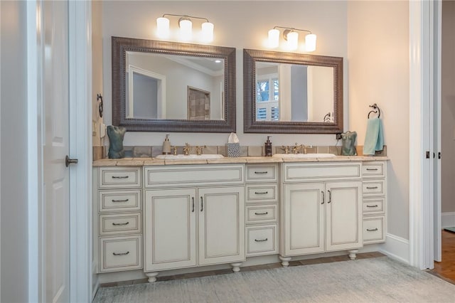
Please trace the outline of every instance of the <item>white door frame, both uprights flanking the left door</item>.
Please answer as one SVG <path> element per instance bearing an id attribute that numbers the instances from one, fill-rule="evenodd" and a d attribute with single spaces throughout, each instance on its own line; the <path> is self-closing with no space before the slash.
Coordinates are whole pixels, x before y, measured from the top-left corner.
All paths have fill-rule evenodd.
<path id="1" fill-rule="evenodd" d="M 28 302 L 43 302 L 43 154 L 41 143 L 42 0 L 27 1 Z M 68 1 L 70 157 L 70 302 L 92 301 L 91 1 Z"/>

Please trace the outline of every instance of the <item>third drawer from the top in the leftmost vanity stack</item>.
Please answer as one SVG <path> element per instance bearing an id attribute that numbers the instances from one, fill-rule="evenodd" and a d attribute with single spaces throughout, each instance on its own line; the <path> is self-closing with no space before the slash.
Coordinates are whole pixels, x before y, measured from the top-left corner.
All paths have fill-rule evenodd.
<path id="1" fill-rule="evenodd" d="M 119 213 L 116 215 L 100 215 L 100 235 L 124 233 L 141 233 L 141 213 Z"/>

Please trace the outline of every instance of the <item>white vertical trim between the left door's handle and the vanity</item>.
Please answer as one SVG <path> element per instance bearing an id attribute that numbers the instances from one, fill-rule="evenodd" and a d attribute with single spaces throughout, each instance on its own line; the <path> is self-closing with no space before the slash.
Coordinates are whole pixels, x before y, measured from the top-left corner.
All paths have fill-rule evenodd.
<path id="1" fill-rule="evenodd" d="M 69 1 L 70 302 L 92 300 L 92 2 Z"/>

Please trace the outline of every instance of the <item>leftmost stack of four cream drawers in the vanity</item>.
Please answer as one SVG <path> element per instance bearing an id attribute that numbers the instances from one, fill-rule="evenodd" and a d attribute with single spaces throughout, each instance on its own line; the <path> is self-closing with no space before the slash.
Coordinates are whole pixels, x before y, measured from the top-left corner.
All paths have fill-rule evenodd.
<path id="1" fill-rule="evenodd" d="M 142 268 L 141 167 L 93 169 L 97 272 Z"/>

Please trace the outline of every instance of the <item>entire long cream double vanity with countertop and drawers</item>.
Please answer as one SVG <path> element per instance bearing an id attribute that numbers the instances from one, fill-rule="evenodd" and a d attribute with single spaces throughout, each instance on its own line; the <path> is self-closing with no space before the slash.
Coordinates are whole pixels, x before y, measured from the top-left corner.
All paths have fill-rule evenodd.
<path id="1" fill-rule="evenodd" d="M 182 157 L 94 162 L 97 273 L 144 270 L 154 282 L 187 267 L 238 272 L 260 256 L 354 260 L 385 242 L 386 157 Z"/>

